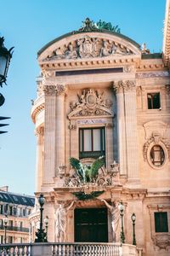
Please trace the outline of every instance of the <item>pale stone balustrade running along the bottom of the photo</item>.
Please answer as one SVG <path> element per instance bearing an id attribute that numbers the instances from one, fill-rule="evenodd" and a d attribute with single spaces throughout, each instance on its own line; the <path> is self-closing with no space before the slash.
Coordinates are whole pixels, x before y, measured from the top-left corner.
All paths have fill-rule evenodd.
<path id="1" fill-rule="evenodd" d="M 31 243 L 0 245 L 0 255 L 22 256 L 142 256 L 142 249 L 117 243 Z"/>

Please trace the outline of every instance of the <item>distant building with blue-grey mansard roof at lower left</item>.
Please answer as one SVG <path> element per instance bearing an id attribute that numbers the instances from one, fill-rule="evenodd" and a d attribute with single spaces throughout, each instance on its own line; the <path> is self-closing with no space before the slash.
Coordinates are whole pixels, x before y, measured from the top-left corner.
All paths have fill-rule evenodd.
<path id="1" fill-rule="evenodd" d="M 8 187 L 0 188 L 0 243 L 28 242 L 30 224 L 28 216 L 34 209 L 35 198 L 8 192 Z"/>

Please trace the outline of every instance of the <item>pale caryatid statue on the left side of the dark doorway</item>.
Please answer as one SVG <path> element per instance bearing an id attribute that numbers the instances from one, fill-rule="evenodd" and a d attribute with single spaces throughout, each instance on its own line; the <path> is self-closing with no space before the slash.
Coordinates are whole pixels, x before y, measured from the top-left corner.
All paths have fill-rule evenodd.
<path id="1" fill-rule="evenodd" d="M 72 201 L 68 207 L 65 204 L 59 204 L 59 207 L 55 211 L 55 232 L 56 241 L 65 242 L 66 238 L 66 224 L 67 224 L 67 212 L 74 205 L 75 201 Z"/>

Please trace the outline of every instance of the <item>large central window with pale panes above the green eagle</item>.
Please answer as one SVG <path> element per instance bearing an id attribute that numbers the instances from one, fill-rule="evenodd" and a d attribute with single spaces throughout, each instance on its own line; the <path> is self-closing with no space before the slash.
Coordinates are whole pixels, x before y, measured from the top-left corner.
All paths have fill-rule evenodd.
<path id="1" fill-rule="evenodd" d="M 98 158 L 105 155 L 105 128 L 79 130 L 79 158 Z"/>

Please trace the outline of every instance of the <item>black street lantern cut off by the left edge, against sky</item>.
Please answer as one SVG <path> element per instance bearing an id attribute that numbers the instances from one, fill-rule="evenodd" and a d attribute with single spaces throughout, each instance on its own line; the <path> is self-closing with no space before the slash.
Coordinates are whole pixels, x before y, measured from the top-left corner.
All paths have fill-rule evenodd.
<path id="1" fill-rule="evenodd" d="M 7 49 L 4 47 L 4 38 L 0 37 L 0 86 L 3 87 L 3 83 L 6 84 L 8 65 L 12 58 L 14 47 Z"/>

